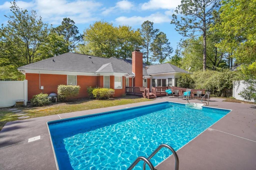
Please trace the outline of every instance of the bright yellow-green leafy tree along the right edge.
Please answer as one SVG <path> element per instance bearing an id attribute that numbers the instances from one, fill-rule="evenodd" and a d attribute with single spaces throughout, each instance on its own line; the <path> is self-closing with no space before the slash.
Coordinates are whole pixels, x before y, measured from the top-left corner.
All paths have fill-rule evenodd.
<path id="1" fill-rule="evenodd" d="M 245 80 L 248 88 L 241 95 L 254 98 L 256 77 L 256 1 L 225 0 L 220 8 L 220 23 L 214 29 L 223 35 L 217 47 L 228 51 L 241 64 L 240 80 Z M 243 95 L 243 92 L 245 94 Z"/>

